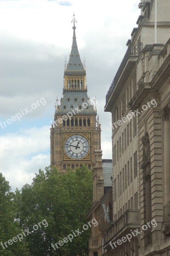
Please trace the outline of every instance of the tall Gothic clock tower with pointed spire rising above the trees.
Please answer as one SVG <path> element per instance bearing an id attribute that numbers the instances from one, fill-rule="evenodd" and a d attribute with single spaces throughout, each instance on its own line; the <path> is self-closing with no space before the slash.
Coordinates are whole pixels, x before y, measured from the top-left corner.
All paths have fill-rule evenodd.
<path id="1" fill-rule="evenodd" d="M 51 164 L 61 172 L 83 163 L 94 168 L 95 150 L 101 149 L 101 127 L 96 108 L 87 96 L 86 70 L 75 37 L 75 15 L 72 22 L 72 50 L 64 70 L 63 97 L 56 106 L 50 136 Z"/>

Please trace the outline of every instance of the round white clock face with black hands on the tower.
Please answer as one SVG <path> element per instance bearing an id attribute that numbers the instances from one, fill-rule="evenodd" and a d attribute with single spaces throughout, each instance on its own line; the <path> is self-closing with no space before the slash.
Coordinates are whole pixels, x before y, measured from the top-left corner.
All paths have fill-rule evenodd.
<path id="1" fill-rule="evenodd" d="M 66 139 L 64 149 L 70 158 L 82 159 L 89 152 L 89 142 L 82 135 L 71 135 Z"/>

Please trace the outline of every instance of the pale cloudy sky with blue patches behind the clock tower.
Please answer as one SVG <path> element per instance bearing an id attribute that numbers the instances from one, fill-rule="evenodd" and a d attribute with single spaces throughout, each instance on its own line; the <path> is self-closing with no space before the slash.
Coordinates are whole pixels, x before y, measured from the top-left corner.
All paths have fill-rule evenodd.
<path id="1" fill-rule="evenodd" d="M 112 158 L 105 96 L 137 26 L 139 2 L 0 0 L 0 172 L 13 190 L 50 164 L 49 129 L 62 96 L 74 12 L 88 95 L 98 100 L 103 158 Z"/>

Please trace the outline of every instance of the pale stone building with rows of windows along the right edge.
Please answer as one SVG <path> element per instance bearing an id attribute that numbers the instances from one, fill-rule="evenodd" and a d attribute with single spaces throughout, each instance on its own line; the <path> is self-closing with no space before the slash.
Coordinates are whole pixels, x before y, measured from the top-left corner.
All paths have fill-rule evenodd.
<path id="1" fill-rule="evenodd" d="M 107 256 L 170 256 L 170 0 L 157 0 L 156 43 L 155 3 L 139 3 L 138 27 L 106 96 L 114 221 L 104 233 Z"/>

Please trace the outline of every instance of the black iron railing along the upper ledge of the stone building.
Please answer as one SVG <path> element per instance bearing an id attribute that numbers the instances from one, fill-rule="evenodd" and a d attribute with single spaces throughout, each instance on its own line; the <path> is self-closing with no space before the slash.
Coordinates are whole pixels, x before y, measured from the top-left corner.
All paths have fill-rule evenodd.
<path id="1" fill-rule="evenodd" d="M 127 48 L 127 52 L 125 53 L 124 58 L 121 61 L 120 67 L 118 68 L 118 71 L 117 71 L 117 73 L 115 75 L 115 78 L 113 79 L 112 84 L 111 84 L 111 86 L 110 86 L 110 88 L 109 88 L 109 90 L 107 92 L 106 104 L 107 104 L 107 102 L 109 100 L 110 95 L 112 94 L 112 91 L 115 88 L 115 85 L 117 84 L 117 81 L 118 81 L 119 77 L 121 76 L 121 73 L 122 73 L 122 71 L 123 71 L 123 69 L 124 69 L 124 67 L 125 67 L 125 65 L 127 63 L 128 58 L 130 56 L 135 56 L 135 57 L 139 56 L 141 51 L 142 51 L 142 43 L 140 43 L 140 44 L 138 44 L 138 43 L 134 43 L 134 44 L 130 43 L 129 44 L 129 46 Z"/>

